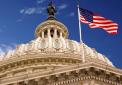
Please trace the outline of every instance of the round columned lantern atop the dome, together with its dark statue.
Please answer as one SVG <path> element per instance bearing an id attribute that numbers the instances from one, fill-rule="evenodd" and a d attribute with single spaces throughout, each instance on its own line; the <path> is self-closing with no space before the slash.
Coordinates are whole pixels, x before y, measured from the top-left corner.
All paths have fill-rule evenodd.
<path id="1" fill-rule="evenodd" d="M 55 18 L 56 9 L 52 2 L 49 3 L 47 8 L 48 18 L 46 21 L 39 24 L 36 28 L 36 37 L 41 38 L 67 38 L 67 27 Z"/>

